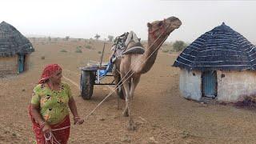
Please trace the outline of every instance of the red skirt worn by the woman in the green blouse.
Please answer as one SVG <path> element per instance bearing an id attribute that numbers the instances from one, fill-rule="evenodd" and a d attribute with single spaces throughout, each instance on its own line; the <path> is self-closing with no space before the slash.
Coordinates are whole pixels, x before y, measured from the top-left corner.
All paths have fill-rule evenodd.
<path id="1" fill-rule="evenodd" d="M 40 128 L 39 124 L 37 122 L 35 122 L 34 118 L 32 117 L 31 111 L 30 111 L 30 106 L 29 106 L 29 114 L 30 114 L 30 118 L 33 123 L 33 130 L 34 130 L 37 144 L 50 143 L 50 141 L 46 142 L 46 138 L 42 134 L 42 129 Z M 53 134 L 54 138 L 56 138 L 58 143 L 66 144 L 70 137 L 70 117 L 69 117 L 69 115 L 67 115 L 64 118 L 63 122 L 59 122 L 57 124 L 50 125 L 50 128 L 53 130 L 52 134 Z M 62 130 L 57 130 L 57 129 L 62 129 Z M 54 142 L 55 142 L 55 140 L 54 140 Z"/>

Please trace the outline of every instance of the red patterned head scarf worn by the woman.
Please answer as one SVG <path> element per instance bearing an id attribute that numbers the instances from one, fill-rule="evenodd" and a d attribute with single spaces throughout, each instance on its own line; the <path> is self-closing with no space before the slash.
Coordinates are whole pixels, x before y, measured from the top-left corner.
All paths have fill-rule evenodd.
<path id="1" fill-rule="evenodd" d="M 46 82 L 54 74 L 56 71 L 62 70 L 61 66 L 58 66 L 58 64 L 50 64 L 45 67 L 45 69 L 42 71 L 42 76 L 39 80 L 39 84 L 42 84 Z"/>

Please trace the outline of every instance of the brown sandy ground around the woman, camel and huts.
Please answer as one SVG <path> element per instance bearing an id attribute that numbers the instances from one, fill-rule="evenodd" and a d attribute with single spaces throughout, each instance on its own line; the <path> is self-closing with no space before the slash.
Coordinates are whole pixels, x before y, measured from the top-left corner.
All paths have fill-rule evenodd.
<path id="1" fill-rule="evenodd" d="M 87 44 L 86 44 L 87 45 Z M 0 79 L 0 143 L 32 143 L 34 134 L 27 106 L 43 66 L 58 63 L 62 78 L 71 86 L 78 113 L 85 118 L 101 102 L 110 88 L 95 86 L 90 101 L 79 97 L 80 66 L 98 61 L 101 42 L 84 48 L 84 42 L 34 44 L 30 70 Z M 82 53 L 75 53 L 82 46 Z M 110 44 L 106 46 L 110 48 Z M 67 52 L 60 52 L 66 50 Z M 110 51 L 106 51 L 106 55 Z M 41 59 L 45 56 L 45 59 Z M 133 114 L 138 130 L 126 130 L 127 118 L 117 110 L 113 94 L 82 126 L 71 126 L 70 143 L 255 143 L 254 110 L 234 106 L 207 105 L 182 98 L 178 89 L 179 69 L 171 67 L 177 55 L 159 53 L 153 68 L 142 75 L 134 94 Z M 104 58 L 106 60 L 106 57 Z M 122 109 L 124 102 L 122 102 Z"/>

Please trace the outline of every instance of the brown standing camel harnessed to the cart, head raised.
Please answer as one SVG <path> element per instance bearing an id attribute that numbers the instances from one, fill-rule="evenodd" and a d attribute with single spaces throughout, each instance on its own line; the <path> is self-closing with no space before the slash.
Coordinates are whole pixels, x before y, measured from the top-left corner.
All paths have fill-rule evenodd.
<path id="1" fill-rule="evenodd" d="M 131 113 L 131 101 L 134 90 L 138 85 L 142 74 L 146 74 L 154 65 L 159 48 L 172 31 L 178 29 L 182 22 L 175 17 L 166 18 L 162 21 L 147 23 L 148 46 L 144 54 L 125 54 L 114 62 L 115 69 L 112 71 L 116 84 L 122 81 L 126 107 L 123 116 L 129 117 L 128 130 L 135 130 L 136 126 Z M 128 43 L 127 49 L 136 45 L 134 41 Z M 119 102 L 119 101 L 118 101 Z M 119 107 L 119 104 L 118 104 Z"/>

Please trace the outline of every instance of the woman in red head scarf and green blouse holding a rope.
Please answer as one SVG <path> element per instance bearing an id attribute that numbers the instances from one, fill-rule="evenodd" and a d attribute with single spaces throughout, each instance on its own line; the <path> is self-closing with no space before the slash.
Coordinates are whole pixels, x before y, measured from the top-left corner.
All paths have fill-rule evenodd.
<path id="1" fill-rule="evenodd" d="M 70 86 L 61 82 L 61 78 L 62 68 L 51 64 L 43 70 L 38 86 L 34 87 L 29 111 L 38 144 L 67 143 L 70 136 L 68 107 L 74 124 L 84 122 L 78 116 Z"/>

